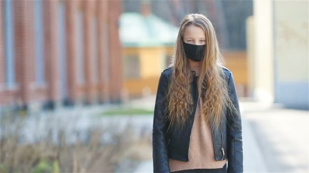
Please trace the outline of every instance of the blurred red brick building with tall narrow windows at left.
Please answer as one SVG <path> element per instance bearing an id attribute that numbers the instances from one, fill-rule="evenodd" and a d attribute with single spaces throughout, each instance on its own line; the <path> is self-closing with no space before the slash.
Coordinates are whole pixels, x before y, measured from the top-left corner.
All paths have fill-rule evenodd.
<path id="1" fill-rule="evenodd" d="M 121 102 L 121 1 L 0 1 L 0 105 Z"/>

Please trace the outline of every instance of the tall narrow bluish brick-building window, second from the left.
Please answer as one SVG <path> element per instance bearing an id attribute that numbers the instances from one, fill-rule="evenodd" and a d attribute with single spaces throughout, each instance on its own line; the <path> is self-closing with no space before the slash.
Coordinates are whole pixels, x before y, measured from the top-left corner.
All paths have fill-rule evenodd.
<path id="1" fill-rule="evenodd" d="M 39 84 L 45 82 L 44 72 L 44 41 L 43 41 L 43 13 L 42 1 L 35 1 L 34 19 L 35 19 L 35 56 L 36 56 L 36 81 Z"/>

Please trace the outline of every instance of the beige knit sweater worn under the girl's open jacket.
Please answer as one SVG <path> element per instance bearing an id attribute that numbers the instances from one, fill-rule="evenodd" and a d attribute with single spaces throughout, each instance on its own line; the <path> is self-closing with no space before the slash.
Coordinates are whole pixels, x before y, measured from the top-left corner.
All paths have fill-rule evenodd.
<path id="1" fill-rule="evenodd" d="M 191 67 L 191 69 L 196 71 L 196 75 L 199 74 L 199 69 L 195 67 Z M 222 168 L 227 162 L 227 159 L 215 160 L 210 123 L 209 121 L 205 123 L 201 119 L 202 105 L 202 99 L 199 99 L 190 137 L 189 161 L 186 162 L 169 158 L 171 171 L 197 168 Z"/>

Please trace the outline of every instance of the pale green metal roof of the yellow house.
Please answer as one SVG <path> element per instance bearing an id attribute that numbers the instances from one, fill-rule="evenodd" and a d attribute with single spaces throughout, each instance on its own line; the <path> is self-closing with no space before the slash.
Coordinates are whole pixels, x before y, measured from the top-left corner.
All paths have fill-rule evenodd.
<path id="1" fill-rule="evenodd" d="M 122 13 L 119 24 L 123 47 L 174 46 L 179 30 L 153 14 Z"/>

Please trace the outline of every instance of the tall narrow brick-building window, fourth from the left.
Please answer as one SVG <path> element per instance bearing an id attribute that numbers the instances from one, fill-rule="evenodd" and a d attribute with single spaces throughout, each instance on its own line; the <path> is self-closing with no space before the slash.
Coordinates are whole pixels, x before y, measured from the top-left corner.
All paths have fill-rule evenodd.
<path id="1" fill-rule="evenodd" d="M 76 28 L 76 76 L 77 83 L 82 84 L 85 82 L 85 70 L 84 70 L 84 23 L 83 14 L 78 11 L 75 16 L 75 28 Z"/>

